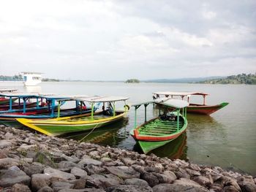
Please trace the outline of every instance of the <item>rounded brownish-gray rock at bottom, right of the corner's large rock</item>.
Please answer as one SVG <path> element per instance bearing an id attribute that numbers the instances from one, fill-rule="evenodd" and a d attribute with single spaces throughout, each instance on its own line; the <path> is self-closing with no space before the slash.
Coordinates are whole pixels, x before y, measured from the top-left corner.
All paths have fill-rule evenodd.
<path id="1" fill-rule="evenodd" d="M 50 185 L 51 176 L 48 174 L 33 174 L 31 177 L 31 188 L 38 191 L 40 188 Z"/>

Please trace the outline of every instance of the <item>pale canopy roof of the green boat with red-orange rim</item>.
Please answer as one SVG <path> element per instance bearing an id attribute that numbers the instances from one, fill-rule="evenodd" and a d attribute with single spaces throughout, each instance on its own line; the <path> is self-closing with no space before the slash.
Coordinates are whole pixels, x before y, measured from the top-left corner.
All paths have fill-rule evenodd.
<path id="1" fill-rule="evenodd" d="M 169 99 L 169 98 L 160 98 L 160 99 L 155 99 L 153 101 L 146 101 L 140 104 L 132 104 L 132 107 L 138 107 L 142 104 L 162 104 L 167 107 L 175 107 L 177 109 L 181 109 L 184 107 L 189 106 L 189 103 L 187 101 L 181 100 L 181 99 Z"/>

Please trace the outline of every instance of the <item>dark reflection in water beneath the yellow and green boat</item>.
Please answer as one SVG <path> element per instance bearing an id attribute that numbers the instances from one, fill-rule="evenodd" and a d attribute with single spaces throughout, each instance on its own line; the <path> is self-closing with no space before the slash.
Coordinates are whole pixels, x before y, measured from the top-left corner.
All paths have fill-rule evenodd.
<path id="1" fill-rule="evenodd" d="M 63 137 L 66 139 L 75 139 L 80 142 L 92 142 L 104 146 L 116 146 L 124 139 L 127 139 L 127 137 L 129 137 L 129 133 L 123 133 L 123 128 L 127 126 L 127 123 L 128 118 L 123 118 L 116 123 L 110 124 L 102 128 L 97 128 L 92 132 L 83 131 L 73 134 L 66 134 Z M 120 130 L 121 128 L 122 130 Z"/>

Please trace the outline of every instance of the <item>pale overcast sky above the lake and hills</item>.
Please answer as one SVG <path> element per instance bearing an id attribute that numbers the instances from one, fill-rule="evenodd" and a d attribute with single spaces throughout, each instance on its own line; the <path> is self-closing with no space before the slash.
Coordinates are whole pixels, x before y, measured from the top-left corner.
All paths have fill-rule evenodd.
<path id="1" fill-rule="evenodd" d="M 256 1 L 0 1 L 0 75 L 140 80 L 256 72 Z"/>

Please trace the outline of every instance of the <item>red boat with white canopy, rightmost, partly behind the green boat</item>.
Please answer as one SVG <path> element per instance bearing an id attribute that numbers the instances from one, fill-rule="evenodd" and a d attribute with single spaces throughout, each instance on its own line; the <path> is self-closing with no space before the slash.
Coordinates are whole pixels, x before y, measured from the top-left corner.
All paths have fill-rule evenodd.
<path id="1" fill-rule="evenodd" d="M 155 92 L 153 93 L 153 99 L 159 99 L 160 97 L 177 97 L 180 96 L 182 100 L 187 99 L 189 102 L 190 96 L 203 96 L 203 104 L 195 104 L 190 103 L 187 107 L 187 112 L 189 113 L 197 113 L 202 115 L 211 115 L 211 113 L 216 112 L 217 110 L 222 109 L 225 107 L 228 103 L 223 102 L 221 104 L 215 104 L 215 105 L 207 105 L 206 104 L 206 96 L 208 96 L 208 93 L 200 93 L 200 92 Z"/>

